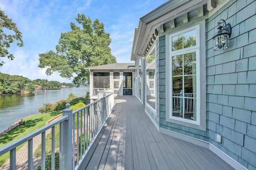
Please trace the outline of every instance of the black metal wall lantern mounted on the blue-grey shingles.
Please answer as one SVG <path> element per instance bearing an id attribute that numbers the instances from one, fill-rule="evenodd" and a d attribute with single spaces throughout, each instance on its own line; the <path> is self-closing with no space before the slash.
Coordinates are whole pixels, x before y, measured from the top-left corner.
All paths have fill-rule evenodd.
<path id="1" fill-rule="evenodd" d="M 221 24 L 223 24 L 223 26 Z M 217 26 L 218 26 L 217 29 L 219 29 L 219 31 L 212 37 L 214 51 L 220 51 L 230 47 L 229 46 L 229 37 L 231 35 L 230 24 L 229 23 L 226 24 L 225 20 L 220 20 L 218 21 Z"/>

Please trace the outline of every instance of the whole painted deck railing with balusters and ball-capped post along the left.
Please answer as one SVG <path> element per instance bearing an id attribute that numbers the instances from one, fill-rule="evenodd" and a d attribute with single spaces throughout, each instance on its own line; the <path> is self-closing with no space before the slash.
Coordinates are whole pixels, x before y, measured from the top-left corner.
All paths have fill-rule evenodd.
<path id="1" fill-rule="evenodd" d="M 55 169 L 55 127 L 60 126 L 60 170 L 79 170 L 86 153 L 114 108 L 114 93 L 74 112 L 66 104 L 63 116 L 44 127 L 0 148 L 0 156 L 10 151 L 10 170 L 16 170 L 16 147 L 28 141 L 28 170 L 33 169 L 33 138 L 42 135 L 41 167 L 45 169 L 46 130 L 52 130 L 52 169 Z M 82 167 L 81 167 L 82 168 Z"/>

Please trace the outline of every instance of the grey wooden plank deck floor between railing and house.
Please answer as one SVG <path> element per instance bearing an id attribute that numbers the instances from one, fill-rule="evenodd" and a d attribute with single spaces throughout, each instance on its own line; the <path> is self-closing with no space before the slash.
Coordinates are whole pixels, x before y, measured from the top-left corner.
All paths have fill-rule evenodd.
<path id="1" fill-rule="evenodd" d="M 85 161 L 86 170 L 233 169 L 209 149 L 158 132 L 135 96 L 116 96 Z"/>

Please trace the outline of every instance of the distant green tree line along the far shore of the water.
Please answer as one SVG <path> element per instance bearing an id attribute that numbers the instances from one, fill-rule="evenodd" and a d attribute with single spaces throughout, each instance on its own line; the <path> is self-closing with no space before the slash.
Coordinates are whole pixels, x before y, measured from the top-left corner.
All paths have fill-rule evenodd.
<path id="1" fill-rule="evenodd" d="M 23 76 L 4 74 L 0 72 L 0 94 L 16 94 L 24 91 L 32 93 L 36 88 L 35 85 L 47 88 L 74 86 L 72 83 L 60 83 L 58 81 L 48 81 L 47 79 L 30 80 Z"/>

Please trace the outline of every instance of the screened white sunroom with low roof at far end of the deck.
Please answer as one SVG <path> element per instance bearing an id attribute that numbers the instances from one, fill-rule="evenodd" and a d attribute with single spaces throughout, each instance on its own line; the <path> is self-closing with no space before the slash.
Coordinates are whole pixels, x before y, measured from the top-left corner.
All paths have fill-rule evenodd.
<path id="1" fill-rule="evenodd" d="M 90 100 L 98 92 L 110 90 L 116 96 L 134 95 L 135 66 L 133 63 L 112 63 L 86 68 L 90 72 Z"/>

